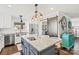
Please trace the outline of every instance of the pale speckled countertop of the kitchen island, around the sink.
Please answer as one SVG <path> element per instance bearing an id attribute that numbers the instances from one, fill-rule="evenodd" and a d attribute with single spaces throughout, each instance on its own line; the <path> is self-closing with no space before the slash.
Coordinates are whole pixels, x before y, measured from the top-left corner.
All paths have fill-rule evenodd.
<path id="1" fill-rule="evenodd" d="M 28 43 L 30 43 L 35 49 L 37 49 L 39 52 L 53 46 L 55 43 L 60 41 L 59 39 L 52 39 L 52 38 L 36 38 L 34 41 L 30 41 L 27 39 L 26 36 L 22 36 Z"/>

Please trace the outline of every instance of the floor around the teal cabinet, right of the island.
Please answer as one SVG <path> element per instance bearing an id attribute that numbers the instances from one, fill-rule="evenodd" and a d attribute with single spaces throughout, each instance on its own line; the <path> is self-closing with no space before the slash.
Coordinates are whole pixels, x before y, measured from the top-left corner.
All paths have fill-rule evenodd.
<path id="1" fill-rule="evenodd" d="M 75 40 L 74 48 L 69 52 L 66 49 L 59 48 L 59 55 L 79 55 L 79 39 Z"/>

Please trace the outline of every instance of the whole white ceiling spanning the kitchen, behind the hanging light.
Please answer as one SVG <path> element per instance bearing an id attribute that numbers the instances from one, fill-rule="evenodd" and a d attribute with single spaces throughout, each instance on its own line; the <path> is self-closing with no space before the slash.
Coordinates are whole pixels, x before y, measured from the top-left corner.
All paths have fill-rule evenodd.
<path id="1" fill-rule="evenodd" d="M 44 15 L 51 14 L 53 11 L 62 11 L 70 17 L 79 17 L 79 4 L 39 4 L 38 8 Z M 34 9 L 33 4 L 14 4 L 11 8 L 7 4 L 1 4 L 0 14 L 23 14 L 30 18 L 34 14 Z"/>

